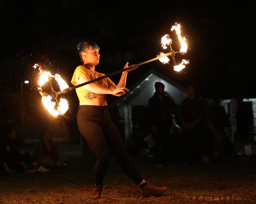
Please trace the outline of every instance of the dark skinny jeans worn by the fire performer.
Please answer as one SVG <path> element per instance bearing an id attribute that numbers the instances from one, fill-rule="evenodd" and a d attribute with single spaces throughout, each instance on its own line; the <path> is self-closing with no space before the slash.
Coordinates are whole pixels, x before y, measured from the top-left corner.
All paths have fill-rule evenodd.
<path id="1" fill-rule="evenodd" d="M 122 137 L 110 119 L 107 106 L 79 106 L 78 128 L 97 157 L 94 167 L 96 185 L 103 183 L 110 159 L 110 151 L 116 155 L 122 170 L 137 185 L 143 178 L 137 172 L 124 146 Z"/>

